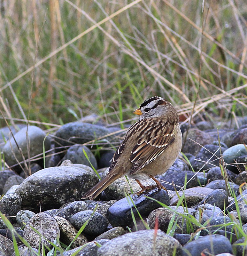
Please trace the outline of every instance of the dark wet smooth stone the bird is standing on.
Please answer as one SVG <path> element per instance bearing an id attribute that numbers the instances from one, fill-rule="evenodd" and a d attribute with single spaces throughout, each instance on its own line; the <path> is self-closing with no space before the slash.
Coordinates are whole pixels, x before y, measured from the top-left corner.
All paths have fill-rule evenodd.
<path id="1" fill-rule="evenodd" d="M 136 194 L 131 195 L 135 206 L 129 197 L 122 198 L 116 203 L 112 204 L 107 211 L 106 217 L 112 224 L 112 227 L 132 227 L 134 222 L 131 211 L 133 212 L 135 219 L 139 219 L 138 212 L 143 218 L 145 218 L 151 211 L 160 207 L 160 204 L 150 198 L 147 198 L 147 196 L 156 199 L 163 204 L 170 204 L 170 197 L 168 196 L 168 193 L 163 189 L 158 190 L 157 188 L 148 190 L 139 196 Z M 136 211 L 135 207 L 137 208 L 138 212 Z"/>

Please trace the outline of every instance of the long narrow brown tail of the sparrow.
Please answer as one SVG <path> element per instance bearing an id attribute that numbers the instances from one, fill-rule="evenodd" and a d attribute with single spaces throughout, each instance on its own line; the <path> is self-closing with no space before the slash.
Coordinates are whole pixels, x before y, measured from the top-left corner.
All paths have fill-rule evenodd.
<path id="1" fill-rule="evenodd" d="M 89 198 L 90 200 L 93 200 L 96 196 L 98 196 L 105 188 L 107 188 L 113 181 L 120 178 L 118 175 L 107 175 L 99 181 L 93 188 L 89 189 L 89 191 L 82 196 L 81 199 Z"/>

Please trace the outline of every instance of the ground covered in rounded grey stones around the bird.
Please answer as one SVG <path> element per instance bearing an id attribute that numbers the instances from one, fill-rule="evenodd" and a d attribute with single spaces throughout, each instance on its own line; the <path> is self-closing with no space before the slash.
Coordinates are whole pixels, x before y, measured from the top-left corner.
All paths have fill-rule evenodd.
<path id="1" fill-rule="evenodd" d="M 157 177 L 168 192 L 153 189 L 133 195 L 130 186 L 135 193 L 140 190 L 138 184 L 129 179 L 129 186 L 123 177 L 93 201 L 81 200 L 98 182 L 90 166 L 100 176 L 106 175 L 114 154 L 112 146 L 124 135 L 118 127 L 73 122 L 46 136 L 42 129 L 29 126 L 27 147 L 27 128 L 20 125 L 15 140 L 24 158 L 32 160 L 31 173 L 28 164 L 21 163 L 23 156 L 14 139 L 8 138 L 9 129 L 2 128 L 5 139 L 0 148 L 5 165 L 0 172 L 0 193 L 4 195 L 0 211 L 9 221 L 2 215 L 0 256 L 16 254 L 15 239 L 19 255 L 41 255 L 41 244 L 47 253 L 58 240 L 60 245 L 71 244 L 72 250 L 63 252 L 65 256 L 245 255 L 247 117 L 238 118 L 238 127 L 220 125 L 224 127 L 219 129 L 221 147 L 219 125 L 200 121 L 189 129 L 185 156 L 180 155 Z M 182 124 L 181 130 L 185 138 L 188 126 Z M 90 146 L 81 145 L 90 141 Z M 220 158 L 225 162 L 224 173 Z M 143 183 L 154 184 L 153 180 Z M 9 222 L 16 231 L 15 239 Z M 79 236 L 78 230 L 82 230 Z M 61 254 L 59 250 L 52 253 Z"/>

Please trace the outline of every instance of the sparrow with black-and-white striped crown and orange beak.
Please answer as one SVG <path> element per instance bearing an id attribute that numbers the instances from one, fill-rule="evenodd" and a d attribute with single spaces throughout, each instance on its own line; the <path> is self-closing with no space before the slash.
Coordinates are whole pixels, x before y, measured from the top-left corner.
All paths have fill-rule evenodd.
<path id="1" fill-rule="evenodd" d="M 155 187 L 166 190 L 154 176 L 166 172 L 180 153 L 182 133 L 178 112 L 169 101 L 155 96 L 145 100 L 133 114 L 140 118 L 128 129 L 117 148 L 108 174 L 82 199 L 93 200 L 113 181 L 125 175 L 134 178 L 141 187 L 138 195 L 153 187 L 145 187 L 140 182 L 149 178 L 156 182 Z"/>

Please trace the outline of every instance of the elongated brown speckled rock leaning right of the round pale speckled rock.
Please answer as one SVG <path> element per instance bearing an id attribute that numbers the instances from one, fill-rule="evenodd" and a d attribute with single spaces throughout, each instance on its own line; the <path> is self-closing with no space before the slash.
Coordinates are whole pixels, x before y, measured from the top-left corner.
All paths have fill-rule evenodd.
<path id="1" fill-rule="evenodd" d="M 58 216 L 54 217 L 54 219 L 57 221 L 60 230 L 60 241 L 69 245 L 77 235 L 78 231 L 69 223 L 68 220 Z M 87 243 L 88 239 L 80 234 L 70 247 L 73 249 Z"/>

